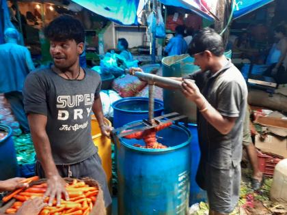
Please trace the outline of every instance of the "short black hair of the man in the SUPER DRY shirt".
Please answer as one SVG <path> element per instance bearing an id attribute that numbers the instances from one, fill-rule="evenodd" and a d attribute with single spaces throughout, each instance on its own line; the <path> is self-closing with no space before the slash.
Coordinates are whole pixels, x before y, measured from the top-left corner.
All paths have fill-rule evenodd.
<path id="1" fill-rule="evenodd" d="M 51 41 L 74 40 L 77 44 L 85 42 L 85 29 L 77 18 L 63 15 L 55 18 L 44 29 L 44 35 Z"/>

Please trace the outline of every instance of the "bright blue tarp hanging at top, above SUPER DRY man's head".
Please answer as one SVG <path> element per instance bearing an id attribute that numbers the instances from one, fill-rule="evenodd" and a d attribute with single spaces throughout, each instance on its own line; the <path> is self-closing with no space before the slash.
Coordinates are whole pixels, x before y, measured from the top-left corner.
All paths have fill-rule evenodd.
<path id="1" fill-rule="evenodd" d="M 72 0 L 96 14 L 122 25 L 137 24 L 140 0 Z"/>

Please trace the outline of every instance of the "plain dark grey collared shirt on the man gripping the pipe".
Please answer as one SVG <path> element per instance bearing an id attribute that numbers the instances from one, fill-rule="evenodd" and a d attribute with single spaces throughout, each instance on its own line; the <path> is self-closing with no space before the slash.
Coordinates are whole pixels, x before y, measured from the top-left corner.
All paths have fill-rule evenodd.
<path id="1" fill-rule="evenodd" d="M 228 134 L 221 134 L 197 111 L 201 159 L 218 169 L 230 169 L 241 162 L 243 120 L 247 106 L 247 85 L 241 72 L 229 60 L 215 74 L 195 72 L 184 78 L 195 80 L 206 100 L 221 115 L 236 117 Z"/>

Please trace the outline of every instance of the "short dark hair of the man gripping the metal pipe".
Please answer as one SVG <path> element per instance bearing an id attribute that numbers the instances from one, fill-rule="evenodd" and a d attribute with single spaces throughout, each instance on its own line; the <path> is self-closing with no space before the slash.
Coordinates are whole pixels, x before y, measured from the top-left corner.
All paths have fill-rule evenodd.
<path id="1" fill-rule="evenodd" d="M 189 44 L 187 53 L 192 56 L 196 53 L 202 53 L 203 51 L 210 51 L 217 57 L 224 53 L 221 35 L 210 27 L 205 27 L 195 34 L 193 40 L 191 40 L 191 43 Z"/>

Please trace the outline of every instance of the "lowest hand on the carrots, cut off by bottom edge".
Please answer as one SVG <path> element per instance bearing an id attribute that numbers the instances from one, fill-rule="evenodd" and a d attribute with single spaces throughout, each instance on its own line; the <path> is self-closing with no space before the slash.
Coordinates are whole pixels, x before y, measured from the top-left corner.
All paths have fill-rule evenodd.
<path id="1" fill-rule="evenodd" d="M 43 199 L 40 197 L 29 199 L 23 203 L 16 215 L 38 215 L 45 206 L 46 203 L 44 203 Z"/>

